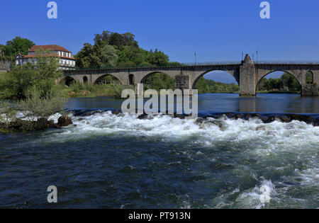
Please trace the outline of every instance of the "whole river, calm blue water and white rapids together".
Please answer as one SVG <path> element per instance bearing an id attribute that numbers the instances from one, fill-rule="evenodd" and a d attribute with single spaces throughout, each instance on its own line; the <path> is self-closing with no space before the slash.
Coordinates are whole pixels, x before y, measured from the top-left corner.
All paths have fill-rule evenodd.
<path id="1" fill-rule="evenodd" d="M 90 111 L 70 113 L 77 126 L 0 135 L 0 207 L 319 207 L 319 127 L 106 111 L 121 103 L 72 98 L 67 108 Z M 203 94 L 198 109 L 318 114 L 319 98 Z M 57 204 L 47 203 L 50 185 Z"/>

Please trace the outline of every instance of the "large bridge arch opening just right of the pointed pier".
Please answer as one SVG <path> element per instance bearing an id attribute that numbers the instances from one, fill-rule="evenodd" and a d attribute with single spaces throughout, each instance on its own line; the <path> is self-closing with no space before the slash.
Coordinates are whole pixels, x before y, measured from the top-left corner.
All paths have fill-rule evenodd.
<path id="1" fill-rule="evenodd" d="M 301 91 L 299 81 L 288 72 L 274 71 L 259 80 L 256 93 L 298 93 Z"/>

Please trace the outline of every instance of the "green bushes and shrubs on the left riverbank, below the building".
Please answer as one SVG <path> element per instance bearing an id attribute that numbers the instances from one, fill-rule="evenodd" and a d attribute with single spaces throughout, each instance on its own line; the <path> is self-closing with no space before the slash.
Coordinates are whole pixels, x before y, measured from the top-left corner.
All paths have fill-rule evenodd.
<path id="1" fill-rule="evenodd" d="M 56 113 L 64 113 L 67 103 L 67 98 L 55 87 L 55 80 L 62 76 L 57 69 L 58 59 L 45 57 L 45 51 L 36 54 L 33 61 L 13 67 L 0 76 L 1 132 L 28 132 L 61 126 L 48 120 Z"/>

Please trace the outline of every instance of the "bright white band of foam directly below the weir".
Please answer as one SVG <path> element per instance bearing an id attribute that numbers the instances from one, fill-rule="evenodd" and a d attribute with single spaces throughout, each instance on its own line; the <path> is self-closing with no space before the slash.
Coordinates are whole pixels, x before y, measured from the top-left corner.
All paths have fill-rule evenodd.
<path id="1" fill-rule="evenodd" d="M 262 137 L 275 147 L 284 145 L 286 139 L 289 139 L 289 145 L 302 145 L 303 142 L 315 145 L 319 142 L 319 127 L 299 121 L 291 123 L 275 121 L 263 124 L 257 118 L 249 121 L 207 118 L 203 122 L 196 122 L 194 119 L 181 120 L 171 118 L 169 115 L 155 115 L 152 118 L 140 120 L 138 115 L 117 116 L 113 115 L 111 111 L 86 117 L 73 116 L 72 120 L 77 127 L 67 127 L 62 132 L 58 131 L 55 136 L 72 135 L 81 138 L 95 134 L 107 135 L 125 132 L 128 135 L 162 135 L 165 137 L 198 135 L 208 137 L 208 139 L 229 139 L 231 141 L 254 140 Z M 203 142 L 203 145 L 205 144 L 209 146 L 211 140 Z"/>

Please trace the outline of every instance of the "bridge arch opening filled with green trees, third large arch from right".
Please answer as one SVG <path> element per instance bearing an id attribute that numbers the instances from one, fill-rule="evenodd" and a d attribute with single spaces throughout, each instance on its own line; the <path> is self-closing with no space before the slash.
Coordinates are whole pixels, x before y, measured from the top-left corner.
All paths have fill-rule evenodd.
<path id="1" fill-rule="evenodd" d="M 147 76 L 142 79 L 141 83 L 144 84 L 145 91 L 147 89 L 155 89 L 156 91 L 161 89 L 174 89 L 174 79 L 162 72 L 147 74 Z"/>

